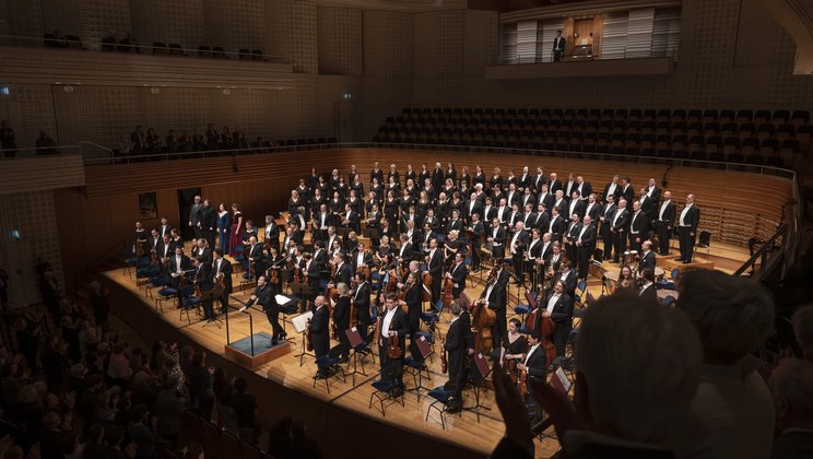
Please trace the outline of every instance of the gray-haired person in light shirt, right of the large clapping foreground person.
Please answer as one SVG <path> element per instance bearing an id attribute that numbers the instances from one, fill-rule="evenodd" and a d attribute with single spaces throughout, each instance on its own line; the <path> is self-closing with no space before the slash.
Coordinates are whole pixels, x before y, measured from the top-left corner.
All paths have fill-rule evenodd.
<path id="1" fill-rule="evenodd" d="M 756 372 L 761 361 L 750 353 L 773 333 L 771 297 L 756 281 L 693 270 L 681 275 L 678 307 L 703 344 L 700 384 L 692 401 L 700 432 L 691 444 L 707 447 L 714 458 L 768 457 L 774 401 Z"/>

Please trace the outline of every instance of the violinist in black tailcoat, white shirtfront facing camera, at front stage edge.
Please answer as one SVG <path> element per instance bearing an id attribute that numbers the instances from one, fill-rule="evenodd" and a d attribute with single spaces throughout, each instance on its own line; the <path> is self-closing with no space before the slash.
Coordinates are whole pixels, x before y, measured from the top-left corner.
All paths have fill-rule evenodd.
<path id="1" fill-rule="evenodd" d="M 406 315 L 401 309 L 398 302 L 398 295 L 390 292 L 385 296 L 386 310 L 379 318 L 381 339 L 378 342 L 378 356 L 381 361 L 381 380 L 393 381 L 396 388 L 392 389 L 392 396 L 399 397 L 403 393 L 403 356 L 406 350 L 406 334 L 410 332 L 410 326 L 406 321 Z M 401 348 L 401 354 L 398 357 L 390 356 L 387 346 L 389 338 L 396 338 Z"/>

